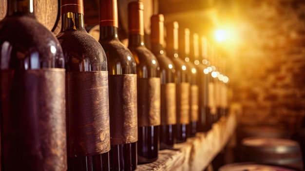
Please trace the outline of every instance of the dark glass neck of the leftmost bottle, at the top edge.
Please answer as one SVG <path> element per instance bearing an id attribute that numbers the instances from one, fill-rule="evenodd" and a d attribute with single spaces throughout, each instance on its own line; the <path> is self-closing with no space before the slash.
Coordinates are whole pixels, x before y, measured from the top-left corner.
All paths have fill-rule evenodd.
<path id="1" fill-rule="evenodd" d="M 7 16 L 29 14 L 34 17 L 33 0 L 8 0 Z"/>

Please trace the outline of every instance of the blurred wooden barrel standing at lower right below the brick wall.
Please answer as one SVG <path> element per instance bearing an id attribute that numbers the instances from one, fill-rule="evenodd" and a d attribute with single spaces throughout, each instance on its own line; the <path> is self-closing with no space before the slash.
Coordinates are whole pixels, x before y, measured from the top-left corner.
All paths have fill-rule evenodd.
<path id="1" fill-rule="evenodd" d="M 242 140 L 241 161 L 303 170 L 299 143 L 289 139 L 250 137 Z"/>

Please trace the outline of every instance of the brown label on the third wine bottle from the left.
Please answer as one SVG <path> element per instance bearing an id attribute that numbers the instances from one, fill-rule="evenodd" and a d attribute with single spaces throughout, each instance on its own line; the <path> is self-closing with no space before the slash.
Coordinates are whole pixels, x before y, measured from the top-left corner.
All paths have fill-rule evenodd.
<path id="1" fill-rule="evenodd" d="M 111 145 L 138 140 L 136 75 L 109 75 Z"/>

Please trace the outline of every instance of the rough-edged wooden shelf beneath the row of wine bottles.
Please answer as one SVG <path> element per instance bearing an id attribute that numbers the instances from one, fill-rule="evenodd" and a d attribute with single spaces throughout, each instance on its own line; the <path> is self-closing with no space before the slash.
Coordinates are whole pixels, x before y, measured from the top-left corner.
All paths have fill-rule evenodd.
<path id="1" fill-rule="evenodd" d="M 159 151 L 158 160 L 138 165 L 136 171 L 202 171 L 226 146 L 236 128 L 236 114 L 231 112 L 213 124 L 207 133 L 197 133 L 173 150 Z"/>

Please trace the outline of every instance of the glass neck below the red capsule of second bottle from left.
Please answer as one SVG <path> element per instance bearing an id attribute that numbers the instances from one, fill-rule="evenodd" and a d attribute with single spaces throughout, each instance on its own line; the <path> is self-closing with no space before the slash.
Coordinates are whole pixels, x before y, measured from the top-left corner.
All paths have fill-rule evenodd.
<path id="1" fill-rule="evenodd" d="M 63 13 L 61 14 L 61 32 L 68 29 L 85 30 L 84 15 L 81 13 Z"/>

